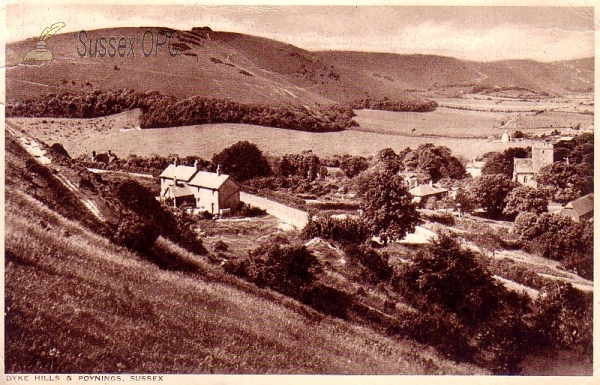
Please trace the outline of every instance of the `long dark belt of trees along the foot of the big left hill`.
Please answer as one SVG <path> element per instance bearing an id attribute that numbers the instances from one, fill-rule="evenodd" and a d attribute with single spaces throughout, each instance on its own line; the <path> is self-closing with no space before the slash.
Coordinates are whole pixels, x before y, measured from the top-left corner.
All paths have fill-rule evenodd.
<path id="1" fill-rule="evenodd" d="M 95 118 L 140 108 L 142 128 L 209 123 L 244 123 L 309 132 L 342 131 L 358 123 L 343 105 L 308 108 L 294 105 L 242 104 L 193 96 L 180 99 L 157 91 L 132 89 L 89 91 L 82 94 L 49 93 L 10 102 L 8 117 Z"/>

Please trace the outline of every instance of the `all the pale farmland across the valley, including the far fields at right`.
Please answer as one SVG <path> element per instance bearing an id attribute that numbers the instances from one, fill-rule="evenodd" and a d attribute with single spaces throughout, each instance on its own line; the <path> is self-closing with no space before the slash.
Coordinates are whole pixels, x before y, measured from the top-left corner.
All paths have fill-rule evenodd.
<path id="1" fill-rule="evenodd" d="M 560 102 L 503 100 L 496 104 L 494 100 L 453 98 L 439 102 L 442 105 L 451 102 L 467 109 L 438 107 L 427 113 L 357 110 L 355 119 L 360 127 L 331 133 L 243 124 L 135 130 L 133 128 L 139 124 L 139 110 L 96 119 L 15 118 L 11 121 L 49 145 L 62 143 L 73 156 L 111 149 L 118 156 L 178 154 L 210 158 L 237 141 L 248 140 L 274 155 L 312 150 L 321 156 L 344 153 L 369 156 L 386 147 L 398 151 L 434 143 L 449 147 L 457 155 L 472 158 L 488 151 L 531 144 L 530 141 L 502 143 L 489 139 L 499 139 L 504 131 L 512 134 L 521 130 L 525 134 L 539 135 L 559 129 L 563 134 L 576 134 L 571 127 L 590 128 L 594 120 L 590 114 L 564 112 L 582 107 L 571 99 Z M 515 112 L 492 111 L 494 106 Z"/>

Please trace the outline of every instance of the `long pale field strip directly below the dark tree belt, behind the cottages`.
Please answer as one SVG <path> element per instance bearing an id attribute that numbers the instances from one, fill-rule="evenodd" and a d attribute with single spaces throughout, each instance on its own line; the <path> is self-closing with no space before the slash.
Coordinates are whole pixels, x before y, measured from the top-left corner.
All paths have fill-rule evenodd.
<path id="1" fill-rule="evenodd" d="M 274 155 L 312 150 L 320 156 L 350 154 L 369 156 L 387 147 L 400 151 L 406 147 L 434 143 L 449 147 L 455 155 L 468 159 L 488 151 L 529 146 L 530 142 L 502 143 L 487 139 L 402 136 L 346 130 L 332 133 L 308 133 L 243 124 L 207 124 L 154 130 L 120 131 L 105 119 L 15 118 L 14 126 L 45 143 L 60 142 L 71 156 L 111 149 L 120 157 L 129 154 L 198 155 L 210 158 L 214 153 L 240 141 L 255 143 Z M 48 123 L 42 123 L 46 120 Z M 52 123 L 52 121 L 54 123 Z M 104 126 L 102 126 L 104 124 Z"/>

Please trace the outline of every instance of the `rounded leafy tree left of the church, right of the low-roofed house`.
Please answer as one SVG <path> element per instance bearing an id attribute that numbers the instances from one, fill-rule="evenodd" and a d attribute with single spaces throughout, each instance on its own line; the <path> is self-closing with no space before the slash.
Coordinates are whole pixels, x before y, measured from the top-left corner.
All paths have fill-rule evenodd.
<path id="1" fill-rule="evenodd" d="M 506 207 L 506 198 L 518 184 L 503 174 L 482 175 L 471 186 L 476 202 L 492 218 L 499 218 Z"/>

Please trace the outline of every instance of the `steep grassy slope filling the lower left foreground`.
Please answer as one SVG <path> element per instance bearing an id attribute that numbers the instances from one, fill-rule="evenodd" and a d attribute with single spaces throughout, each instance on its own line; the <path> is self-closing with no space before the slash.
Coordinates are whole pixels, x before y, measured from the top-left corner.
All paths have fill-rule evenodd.
<path id="1" fill-rule="evenodd" d="M 27 155 L 7 152 L 8 373 L 481 373 L 260 290 L 163 238 L 196 272 L 161 270 L 34 199 L 11 169 Z"/>

